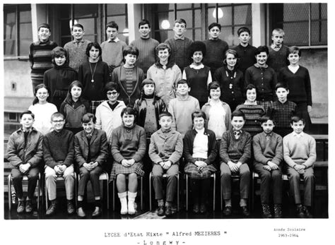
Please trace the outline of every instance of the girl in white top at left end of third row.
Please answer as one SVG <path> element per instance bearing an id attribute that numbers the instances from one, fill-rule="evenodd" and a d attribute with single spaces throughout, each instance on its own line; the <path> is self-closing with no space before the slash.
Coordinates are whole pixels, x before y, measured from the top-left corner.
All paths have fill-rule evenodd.
<path id="1" fill-rule="evenodd" d="M 39 84 L 35 87 L 35 99 L 30 105 L 30 112 L 35 115 L 33 127 L 43 135 L 52 131 L 51 115 L 57 112 L 57 107 L 48 102 L 49 89 L 46 85 Z"/>

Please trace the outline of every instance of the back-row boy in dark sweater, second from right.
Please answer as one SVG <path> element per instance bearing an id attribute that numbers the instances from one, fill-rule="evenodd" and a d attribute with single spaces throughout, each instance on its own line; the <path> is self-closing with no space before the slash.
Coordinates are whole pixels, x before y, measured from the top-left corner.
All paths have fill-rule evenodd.
<path id="1" fill-rule="evenodd" d="M 238 56 L 240 56 L 238 69 L 245 74 L 245 70 L 250 66 L 253 66 L 256 63 L 256 59 L 254 57 L 254 52 L 256 51 L 256 47 L 249 44 L 249 40 L 251 38 L 251 32 L 249 28 L 242 26 L 237 30 L 238 39 L 240 40 L 240 44 L 233 49 L 236 50 Z"/>

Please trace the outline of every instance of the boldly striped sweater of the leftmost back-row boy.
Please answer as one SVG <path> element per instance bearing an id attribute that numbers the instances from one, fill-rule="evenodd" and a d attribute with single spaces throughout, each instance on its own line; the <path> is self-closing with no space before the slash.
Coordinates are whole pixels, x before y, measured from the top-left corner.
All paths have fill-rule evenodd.
<path id="1" fill-rule="evenodd" d="M 50 40 L 30 44 L 29 61 L 31 68 L 30 76 L 32 79 L 41 80 L 41 83 L 43 82 L 45 71 L 52 68 L 51 52 L 55 47 L 57 47 L 57 43 Z"/>

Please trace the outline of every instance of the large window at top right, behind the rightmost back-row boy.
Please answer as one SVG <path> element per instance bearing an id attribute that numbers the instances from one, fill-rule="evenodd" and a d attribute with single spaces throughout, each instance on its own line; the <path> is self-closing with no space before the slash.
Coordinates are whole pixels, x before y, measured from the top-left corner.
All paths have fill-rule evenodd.
<path id="1" fill-rule="evenodd" d="M 270 15 L 272 29 L 284 30 L 286 45 L 327 45 L 327 4 L 270 4 Z"/>

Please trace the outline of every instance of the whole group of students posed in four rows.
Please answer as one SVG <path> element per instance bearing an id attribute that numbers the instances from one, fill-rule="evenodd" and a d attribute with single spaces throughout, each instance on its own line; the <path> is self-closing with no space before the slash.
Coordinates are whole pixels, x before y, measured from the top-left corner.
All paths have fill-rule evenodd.
<path id="1" fill-rule="evenodd" d="M 21 114 L 22 128 L 11 135 L 6 153 L 18 213 L 31 211 L 42 171 L 51 201 L 47 215 L 56 210 L 59 175 L 65 179 L 69 214 L 86 216 L 83 195 L 90 180 L 93 217 L 100 215 L 98 179 L 112 162 L 110 179 L 117 184 L 121 214 L 136 212 L 137 177 L 152 171 L 158 215 L 169 216 L 175 212 L 181 162 L 191 178 L 194 213 L 206 212 L 209 177 L 220 169 L 223 213 L 232 213 L 230 177 L 240 174 L 240 207 L 248 216 L 254 160 L 262 179 L 263 215 L 272 217 L 273 179 L 274 216 L 281 217 L 285 160 L 298 215 L 311 217 L 315 141 L 302 129 L 310 125 L 312 95 L 309 73 L 299 65 L 300 49 L 283 45 L 281 29 L 272 32 L 270 48 L 256 48 L 248 43 L 249 29 L 240 28 L 240 44 L 233 49 L 218 38 L 218 23 L 208 26 L 210 38 L 204 42 L 184 37 L 183 19 L 175 20 L 173 30 L 175 37 L 159 44 L 150 37 L 148 20 L 141 20 L 141 37 L 127 46 L 117 38 L 118 26 L 112 21 L 106 25 L 108 40 L 100 45 L 84 40 L 83 25 L 76 23 L 74 40 L 62 48 L 49 40 L 49 25 L 40 25 L 40 40 L 30 46 L 35 100 Z M 74 171 L 80 176 L 77 197 Z M 25 174 L 30 179 L 26 201 L 21 184 Z M 300 174 L 305 177 L 303 203 L 297 189 Z"/>

